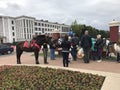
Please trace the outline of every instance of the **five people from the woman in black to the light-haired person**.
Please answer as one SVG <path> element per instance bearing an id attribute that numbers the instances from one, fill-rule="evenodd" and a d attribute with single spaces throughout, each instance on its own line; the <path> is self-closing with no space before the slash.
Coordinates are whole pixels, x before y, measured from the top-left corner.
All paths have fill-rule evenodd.
<path id="1" fill-rule="evenodd" d="M 80 45 L 78 42 L 79 42 L 79 39 L 75 35 L 70 40 L 68 39 L 68 36 L 65 35 L 65 39 L 61 44 L 64 67 L 68 67 L 69 52 L 71 53 L 73 60 L 74 61 L 77 60 L 77 47 L 78 46 L 83 49 L 84 63 L 90 62 L 90 56 L 91 56 L 91 59 L 93 60 L 98 60 L 98 62 L 102 61 L 101 57 L 102 57 L 103 46 L 105 44 L 105 41 L 104 39 L 101 38 L 100 34 L 97 35 L 97 38 L 92 38 L 89 35 L 89 32 L 86 30 L 80 40 Z"/>

